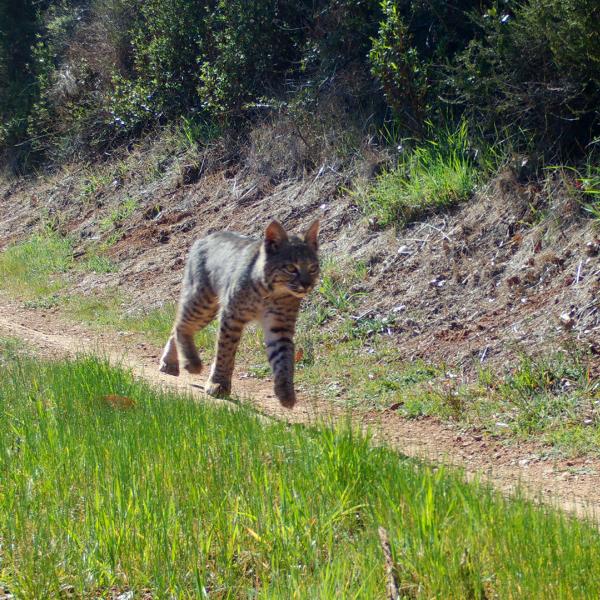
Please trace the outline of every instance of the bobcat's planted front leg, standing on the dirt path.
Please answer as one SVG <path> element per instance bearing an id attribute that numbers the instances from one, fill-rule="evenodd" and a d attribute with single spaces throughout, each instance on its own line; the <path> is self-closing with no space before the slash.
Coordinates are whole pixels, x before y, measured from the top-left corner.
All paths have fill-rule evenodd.
<path id="1" fill-rule="evenodd" d="M 231 393 L 231 377 L 235 364 L 235 353 L 245 323 L 223 311 L 219 322 L 217 350 L 210 376 L 204 386 L 209 396 L 228 396 Z"/>

